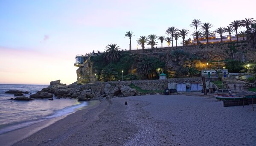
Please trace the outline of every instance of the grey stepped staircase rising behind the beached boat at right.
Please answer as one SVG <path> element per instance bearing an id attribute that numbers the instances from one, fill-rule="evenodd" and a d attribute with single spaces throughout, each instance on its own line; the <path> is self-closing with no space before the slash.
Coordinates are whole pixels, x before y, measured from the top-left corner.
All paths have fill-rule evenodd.
<path id="1" fill-rule="evenodd" d="M 250 86 L 247 85 L 246 82 L 236 79 L 224 80 L 224 84 L 231 94 L 248 91 L 248 88 L 250 88 Z"/>

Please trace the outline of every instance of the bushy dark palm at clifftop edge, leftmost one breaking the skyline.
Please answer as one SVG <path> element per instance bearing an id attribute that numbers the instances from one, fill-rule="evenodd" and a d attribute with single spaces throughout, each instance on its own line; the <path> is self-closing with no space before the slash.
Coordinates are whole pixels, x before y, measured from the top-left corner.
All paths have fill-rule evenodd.
<path id="1" fill-rule="evenodd" d="M 116 46 L 117 44 L 112 44 L 106 46 L 106 51 L 104 54 L 104 58 L 105 60 L 107 60 L 108 62 L 114 62 L 119 60 L 120 56 L 122 56 L 122 54 L 120 53 L 120 48 L 119 46 Z"/>

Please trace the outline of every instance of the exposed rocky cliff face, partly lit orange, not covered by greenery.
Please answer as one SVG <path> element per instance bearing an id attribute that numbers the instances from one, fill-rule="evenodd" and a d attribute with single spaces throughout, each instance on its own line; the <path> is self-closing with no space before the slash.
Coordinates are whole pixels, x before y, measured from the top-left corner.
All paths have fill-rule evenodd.
<path id="1" fill-rule="evenodd" d="M 172 51 L 183 50 L 189 54 L 201 57 L 201 60 L 183 61 L 182 58 L 177 59 L 172 57 Z M 241 61 L 256 61 L 256 49 L 246 42 L 224 43 L 224 44 L 209 44 L 198 46 L 182 46 L 170 48 L 154 48 L 144 50 L 132 50 L 131 54 L 145 54 L 147 56 L 159 57 L 160 60 L 166 63 L 166 70 L 174 73 L 180 66 L 191 66 L 198 70 L 211 68 L 218 69 L 225 66 L 224 62 L 218 60 L 241 60 Z M 207 62 L 210 61 L 207 65 Z M 95 73 L 92 69 L 90 58 L 84 62 L 83 67 L 79 67 L 76 71 L 78 83 L 93 83 L 96 81 Z"/>

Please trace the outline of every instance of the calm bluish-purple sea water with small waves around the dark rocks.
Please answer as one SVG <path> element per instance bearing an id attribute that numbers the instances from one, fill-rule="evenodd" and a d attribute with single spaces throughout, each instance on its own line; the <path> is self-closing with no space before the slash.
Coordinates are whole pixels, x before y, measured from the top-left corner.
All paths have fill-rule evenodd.
<path id="1" fill-rule="evenodd" d="M 13 90 L 28 91 L 29 97 L 48 85 L 8 85 L 0 84 L 0 134 L 23 128 L 49 118 L 66 116 L 87 106 L 87 102 L 78 102 L 77 99 L 61 98 L 54 100 L 35 99 L 31 101 L 10 100 L 14 94 L 4 92 Z"/>

